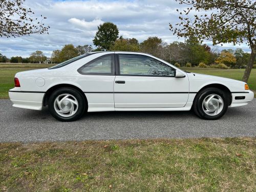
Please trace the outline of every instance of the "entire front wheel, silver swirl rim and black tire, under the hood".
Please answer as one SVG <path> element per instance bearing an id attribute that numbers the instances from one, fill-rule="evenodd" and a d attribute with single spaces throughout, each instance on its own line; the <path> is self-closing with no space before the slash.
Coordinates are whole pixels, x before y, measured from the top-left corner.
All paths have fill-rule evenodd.
<path id="1" fill-rule="evenodd" d="M 227 111 L 228 99 L 225 92 L 217 88 L 206 88 L 198 93 L 193 109 L 202 119 L 215 120 Z"/>

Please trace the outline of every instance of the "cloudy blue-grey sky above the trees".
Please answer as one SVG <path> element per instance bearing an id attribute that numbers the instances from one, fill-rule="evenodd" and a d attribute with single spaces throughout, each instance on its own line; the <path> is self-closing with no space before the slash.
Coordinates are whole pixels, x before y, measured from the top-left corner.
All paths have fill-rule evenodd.
<path id="1" fill-rule="evenodd" d="M 50 26 L 49 35 L 0 37 L 0 53 L 7 57 L 28 57 L 36 50 L 50 57 L 53 50 L 61 49 L 66 44 L 93 45 L 97 26 L 104 22 L 114 23 L 119 29 L 119 35 L 137 38 L 139 42 L 150 36 L 158 36 L 167 43 L 184 41 L 169 30 L 169 23 L 179 22 L 176 9 L 183 8 L 175 0 L 27 0 L 25 6 L 30 7 L 35 16 L 42 14 L 47 17 L 44 23 Z M 211 41 L 205 43 L 212 47 Z M 237 48 L 250 51 L 246 44 L 224 44 L 212 48 L 219 51 Z"/>

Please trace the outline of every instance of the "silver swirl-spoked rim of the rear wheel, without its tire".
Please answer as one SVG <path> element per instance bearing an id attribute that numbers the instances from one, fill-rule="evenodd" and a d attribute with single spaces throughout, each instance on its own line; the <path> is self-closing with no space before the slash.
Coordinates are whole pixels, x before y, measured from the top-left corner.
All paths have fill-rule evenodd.
<path id="1" fill-rule="evenodd" d="M 54 110 L 62 117 L 70 117 L 76 113 L 78 101 L 71 94 L 61 94 L 54 100 Z"/>

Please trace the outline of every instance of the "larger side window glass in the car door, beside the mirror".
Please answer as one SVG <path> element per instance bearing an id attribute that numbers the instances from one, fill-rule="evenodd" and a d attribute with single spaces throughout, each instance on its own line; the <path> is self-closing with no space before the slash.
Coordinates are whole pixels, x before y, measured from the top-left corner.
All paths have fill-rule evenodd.
<path id="1" fill-rule="evenodd" d="M 144 55 L 119 55 L 121 75 L 175 76 L 175 69 Z"/>

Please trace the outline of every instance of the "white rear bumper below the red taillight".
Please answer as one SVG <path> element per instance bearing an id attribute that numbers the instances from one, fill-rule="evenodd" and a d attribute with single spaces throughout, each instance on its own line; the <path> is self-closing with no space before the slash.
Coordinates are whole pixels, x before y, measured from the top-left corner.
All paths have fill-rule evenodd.
<path id="1" fill-rule="evenodd" d="M 15 108 L 42 110 L 45 93 L 30 93 L 9 90 L 9 97 Z"/>

